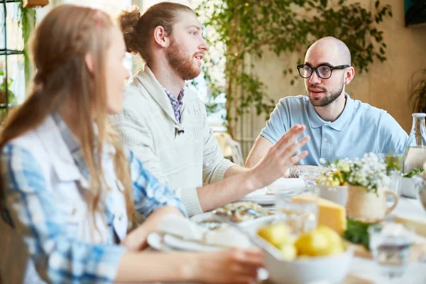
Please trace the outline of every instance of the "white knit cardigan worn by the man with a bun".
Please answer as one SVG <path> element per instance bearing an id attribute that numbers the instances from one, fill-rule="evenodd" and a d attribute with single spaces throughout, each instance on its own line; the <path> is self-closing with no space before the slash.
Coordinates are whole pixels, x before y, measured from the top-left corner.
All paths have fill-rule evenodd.
<path id="1" fill-rule="evenodd" d="M 182 102 L 179 123 L 170 99 L 146 66 L 126 88 L 123 111 L 112 121 L 145 168 L 170 185 L 193 215 L 202 212 L 197 187 L 222 180 L 234 164 L 224 158 L 197 94 L 185 88 Z"/>

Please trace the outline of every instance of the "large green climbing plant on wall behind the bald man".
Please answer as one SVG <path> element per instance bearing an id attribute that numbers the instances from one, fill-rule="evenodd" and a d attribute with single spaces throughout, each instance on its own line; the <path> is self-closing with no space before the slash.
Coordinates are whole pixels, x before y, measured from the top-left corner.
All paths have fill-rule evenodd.
<path id="1" fill-rule="evenodd" d="M 226 121 L 231 136 L 236 134 L 239 116 L 251 107 L 256 114 L 270 114 L 275 106 L 266 94 L 266 86 L 253 74 L 251 56 L 262 58 L 266 50 L 278 57 L 297 53 L 318 38 L 332 35 L 343 40 L 351 50 L 352 65 L 362 73 L 375 60 L 386 60 L 383 31 L 377 24 L 392 16 L 391 6 L 376 1 L 374 11 L 347 0 L 208 0 L 196 12 L 207 31 L 212 48 L 222 49 L 224 56 L 205 58 L 203 71 L 212 90 L 212 98 L 226 94 Z M 300 58 L 297 63 L 302 62 Z M 288 62 L 293 66 L 293 62 Z M 295 82 L 295 67 L 283 75 Z M 214 74 L 223 75 L 218 80 Z"/>

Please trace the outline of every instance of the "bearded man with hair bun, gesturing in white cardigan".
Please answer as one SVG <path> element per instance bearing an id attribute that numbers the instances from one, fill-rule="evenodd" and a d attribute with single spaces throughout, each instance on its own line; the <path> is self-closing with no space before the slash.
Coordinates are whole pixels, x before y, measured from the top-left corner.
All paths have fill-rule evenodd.
<path id="1" fill-rule="evenodd" d="M 297 125 L 271 148 L 255 168 L 226 160 L 207 124 L 204 104 L 185 80 L 201 72 L 209 49 L 189 7 L 160 2 L 145 13 L 136 8 L 119 15 L 128 52 L 146 62 L 124 92 L 121 114 L 112 122 L 121 138 L 143 161 L 143 168 L 167 183 L 189 215 L 209 211 L 271 184 L 305 158 L 294 155 L 309 137 Z"/>

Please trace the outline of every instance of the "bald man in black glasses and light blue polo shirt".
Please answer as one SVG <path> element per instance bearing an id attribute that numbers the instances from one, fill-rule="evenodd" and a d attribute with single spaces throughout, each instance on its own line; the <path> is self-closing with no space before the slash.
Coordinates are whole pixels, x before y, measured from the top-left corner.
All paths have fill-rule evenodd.
<path id="1" fill-rule="evenodd" d="M 311 140 L 300 151 L 306 158 L 290 170 L 297 176 L 303 165 L 320 165 L 320 158 L 334 160 L 361 157 L 364 153 L 403 153 L 407 133 L 382 109 L 354 100 L 345 92 L 354 79 L 349 48 L 337 38 L 317 40 L 297 66 L 305 80 L 307 96 L 280 99 L 271 118 L 256 139 L 246 161 L 253 167 L 269 148 L 295 124 L 305 124 Z M 302 136 L 301 136 L 302 137 Z"/>

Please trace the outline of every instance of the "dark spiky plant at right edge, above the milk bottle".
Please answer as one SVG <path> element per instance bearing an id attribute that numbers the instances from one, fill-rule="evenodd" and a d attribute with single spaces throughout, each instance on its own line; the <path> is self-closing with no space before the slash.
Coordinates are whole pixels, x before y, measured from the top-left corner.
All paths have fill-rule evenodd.
<path id="1" fill-rule="evenodd" d="M 408 94 L 413 112 L 426 112 L 426 68 L 413 74 L 408 84 Z"/>

